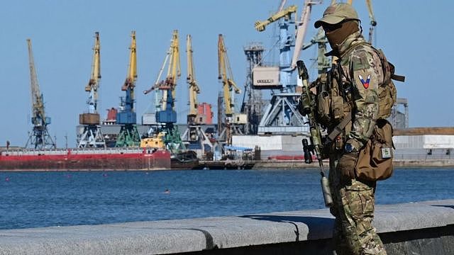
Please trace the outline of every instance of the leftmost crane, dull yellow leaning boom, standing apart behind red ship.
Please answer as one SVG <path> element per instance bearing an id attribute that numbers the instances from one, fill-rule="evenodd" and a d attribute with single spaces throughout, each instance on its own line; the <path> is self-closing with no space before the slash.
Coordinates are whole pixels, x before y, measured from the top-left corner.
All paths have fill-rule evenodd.
<path id="1" fill-rule="evenodd" d="M 31 123 L 33 129 L 28 132 L 26 147 L 34 149 L 55 149 L 56 145 L 50 137 L 48 125 L 51 120 L 45 115 L 44 98 L 40 92 L 38 77 L 36 75 L 35 60 L 33 60 L 33 51 L 31 48 L 31 39 L 27 39 L 28 44 L 28 66 L 30 68 L 31 80 Z"/>

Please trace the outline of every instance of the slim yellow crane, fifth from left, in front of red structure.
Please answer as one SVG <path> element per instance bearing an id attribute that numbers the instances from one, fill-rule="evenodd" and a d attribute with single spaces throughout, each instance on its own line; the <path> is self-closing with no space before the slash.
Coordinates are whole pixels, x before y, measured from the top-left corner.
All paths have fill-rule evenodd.
<path id="1" fill-rule="evenodd" d="M 187 115 L 187 123 L 194 125 L 197 116 L 197 94 L 200 93 L 199 85 L 196 81 L 194 71 L 194 62 L 192 60 L 192 40 L 191 35 L 186 38 L 186 53 L 187 53 L 187 84 L 189 85 L 189 114 Z"/>

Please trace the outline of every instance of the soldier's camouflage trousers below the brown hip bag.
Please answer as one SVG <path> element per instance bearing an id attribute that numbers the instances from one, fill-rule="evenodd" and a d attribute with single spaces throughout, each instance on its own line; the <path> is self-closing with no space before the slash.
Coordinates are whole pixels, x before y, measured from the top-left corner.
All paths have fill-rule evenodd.
<path id="1" fill-rule="evenodd" d="M 336 170 L 336 164 L 337 161 L 330 160 L 331 214 L 336 217 L 333 229 L 336 254 L 387 254 L 372 226 L 375 183 L 345 180 Z"/>

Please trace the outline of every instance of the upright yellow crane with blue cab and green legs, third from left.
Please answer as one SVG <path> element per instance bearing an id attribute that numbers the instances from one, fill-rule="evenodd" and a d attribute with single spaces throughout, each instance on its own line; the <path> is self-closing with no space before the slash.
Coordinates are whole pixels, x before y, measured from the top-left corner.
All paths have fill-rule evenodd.
<path id="1" fill-rule="evenodd" d="M 121 86 L 121 90 L 126 92 L 126 96 L 124 98 L 121 97 L 121 111 L 116 114 L 116 123 L 121 125 L 116 140 L 116 147 L 138 147 L 140 145 L 140 135 L 137 130 L 134 110 L 134 88 L 137 79 L 135 31 L 131 32 L 131 46 L 129 50 L 128 74 L 123 86 Z"/>

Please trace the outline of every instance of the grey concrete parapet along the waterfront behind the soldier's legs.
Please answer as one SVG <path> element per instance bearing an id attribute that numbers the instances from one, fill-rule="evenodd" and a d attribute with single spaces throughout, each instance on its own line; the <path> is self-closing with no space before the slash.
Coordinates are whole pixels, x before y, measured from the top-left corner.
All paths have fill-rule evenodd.
<path id="1" fill-rule="evenodd" d="M 0 254 L 332 254 L 327 209 L 0 231 Z M 377 205 L 388 254 L 454 254 L 454 200 Z"/>

